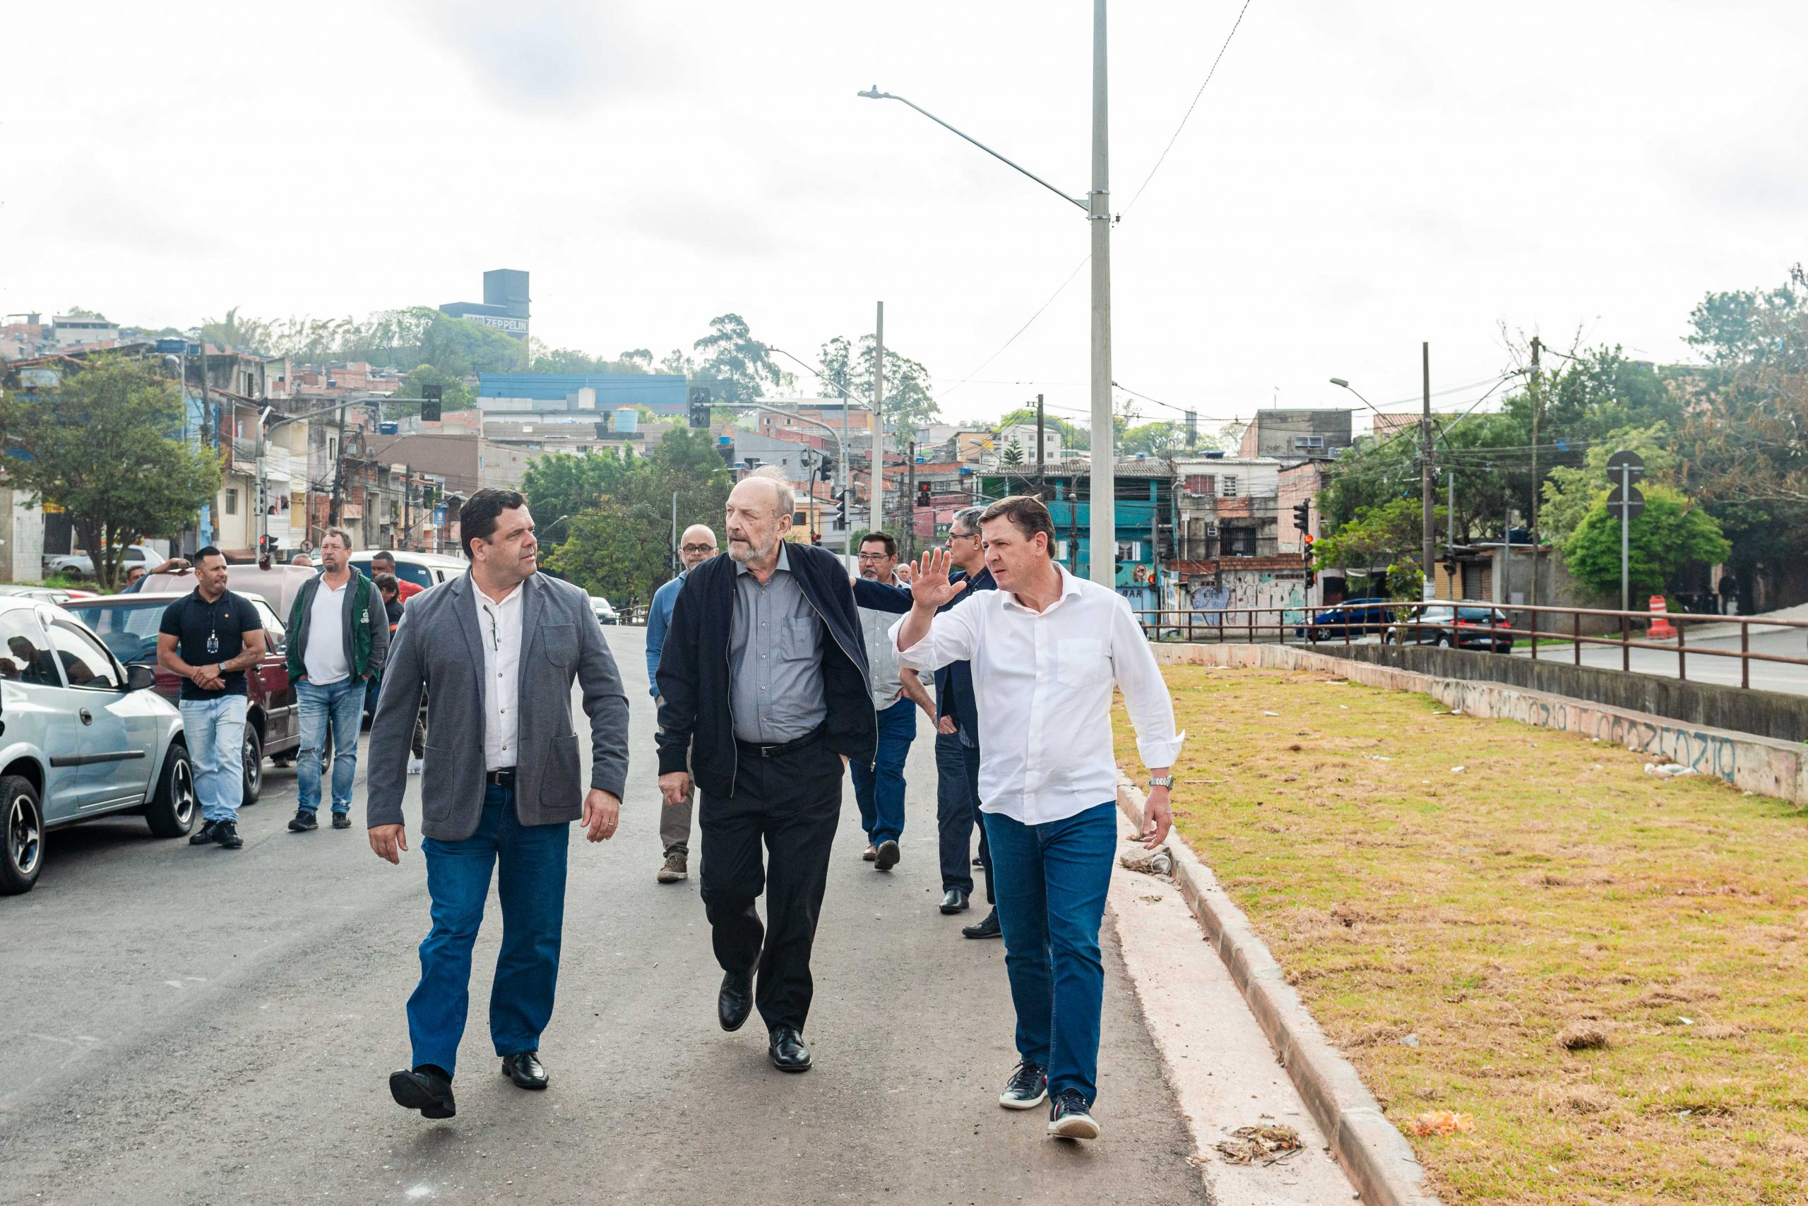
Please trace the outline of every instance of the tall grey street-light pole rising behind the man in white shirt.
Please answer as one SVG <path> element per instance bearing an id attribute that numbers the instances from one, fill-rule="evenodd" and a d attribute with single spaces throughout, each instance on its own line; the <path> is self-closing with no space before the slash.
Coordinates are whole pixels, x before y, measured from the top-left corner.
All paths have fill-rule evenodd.
<path id="1" fill-rule="evenodd" d="M 1106 121 L 1105 0 L 1092 0 L 1092 499 L 1088 575 L 1117 586 L 1117 485 L 1112 465 L 1112 206 L 1110 123 Z M 1078 499 L 1076 499 L 1078 503 Z"/>

